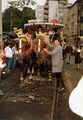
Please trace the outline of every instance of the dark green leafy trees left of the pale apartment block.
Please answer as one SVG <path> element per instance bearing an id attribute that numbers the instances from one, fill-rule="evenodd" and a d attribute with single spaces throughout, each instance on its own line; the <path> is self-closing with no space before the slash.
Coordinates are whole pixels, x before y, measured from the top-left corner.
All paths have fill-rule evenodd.
<path id="1" fill-rule="evenodd" d="M 23 28 L 30 19 L 35 18 L 35 11 L 24 7 L 23 10 L 10 7 L 3 12 L 3 31 L 11 31 L 11 27 Z M 12 21 L 12 26 L 11 26 Z"/>

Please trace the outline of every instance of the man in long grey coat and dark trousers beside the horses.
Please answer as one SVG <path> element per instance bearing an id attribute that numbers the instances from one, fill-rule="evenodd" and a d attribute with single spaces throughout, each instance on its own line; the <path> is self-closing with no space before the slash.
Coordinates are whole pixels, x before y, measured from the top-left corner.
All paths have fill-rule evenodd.
<path id="1" fill-rule="evenodd" d="M 52 48 L 51 51 L 44 48 L 44 52 L 52 56 L 52 73 L 54 75 L 54 79 L 57 81 L 58 90 L 62 91 L 65 89 L 65 85 L 62 78 L 63 54 L 62 54 L 62 47 L 60 45 L 60 41 L 61 40 L 58 37 L 57 38 L 53 37 L 52 45 L 48 42 L 49 43 L 48 47 Z"/>

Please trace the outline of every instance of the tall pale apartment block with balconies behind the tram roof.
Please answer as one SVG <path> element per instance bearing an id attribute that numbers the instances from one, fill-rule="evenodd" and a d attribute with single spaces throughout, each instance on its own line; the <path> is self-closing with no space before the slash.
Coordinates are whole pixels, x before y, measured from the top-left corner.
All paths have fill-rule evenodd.
<path id="1" fill-rule="evenodd" d="M 61 23 L 64 23 L 64 12 L 66 11 L 67 0 L 46 0 L 44 4 L 44 15 L 42 15 L 43 21 L 50 22 L 53 19 L 60 20 Z M 38 10 L 40 8 L 36 8 L 36 14 L 39 14 Z M 38 13 L 37 13 L 38 12 Z M 38 15 L 36 15 L 36 19 Z M 42 19 L 41 19 L 42 20 Z"/>

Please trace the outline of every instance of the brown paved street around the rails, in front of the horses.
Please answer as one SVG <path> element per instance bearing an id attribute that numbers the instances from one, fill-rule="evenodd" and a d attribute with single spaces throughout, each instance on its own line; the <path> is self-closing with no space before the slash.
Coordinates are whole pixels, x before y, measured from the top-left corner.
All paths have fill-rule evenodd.
<path id="1" fill-rule="evenodd" d="M 63 77 L 66 91 L 58 93 L 57 113 L 54 113 L 54 120 L 82 120 L 68 106 L 70 92 L 82 75 L 83 64 L 80 64 L 80 70 L 77 70 L 74 57 L 71 59 L 71 64 L 64 64 Z M 1 80 L 0 88 L 4 91 L 4 95 L 0 96 L 0 120 L 51 120 L 54 93 L 51 82 L 47 79 L 35 80 L 21 86 L 19 77 L 19 70 L 15 70 Z"/>

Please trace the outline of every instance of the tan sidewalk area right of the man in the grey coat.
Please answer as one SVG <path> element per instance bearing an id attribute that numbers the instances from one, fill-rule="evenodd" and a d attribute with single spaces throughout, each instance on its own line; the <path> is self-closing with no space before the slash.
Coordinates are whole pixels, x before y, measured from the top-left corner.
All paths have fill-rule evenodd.
<path id="1" fill-rule="evenodd" d="M 83 75 L 83 63 L 80 64 L 80 69 L 76 69 L 76 65 L 74 63 L 74 57 L 72 57 L 71 64 L 64 64 L 63 76 L 64 82 L 69 92 L 72 91 L 74 87 L 76 87 L 77 83 L 81 79 Z"/>

